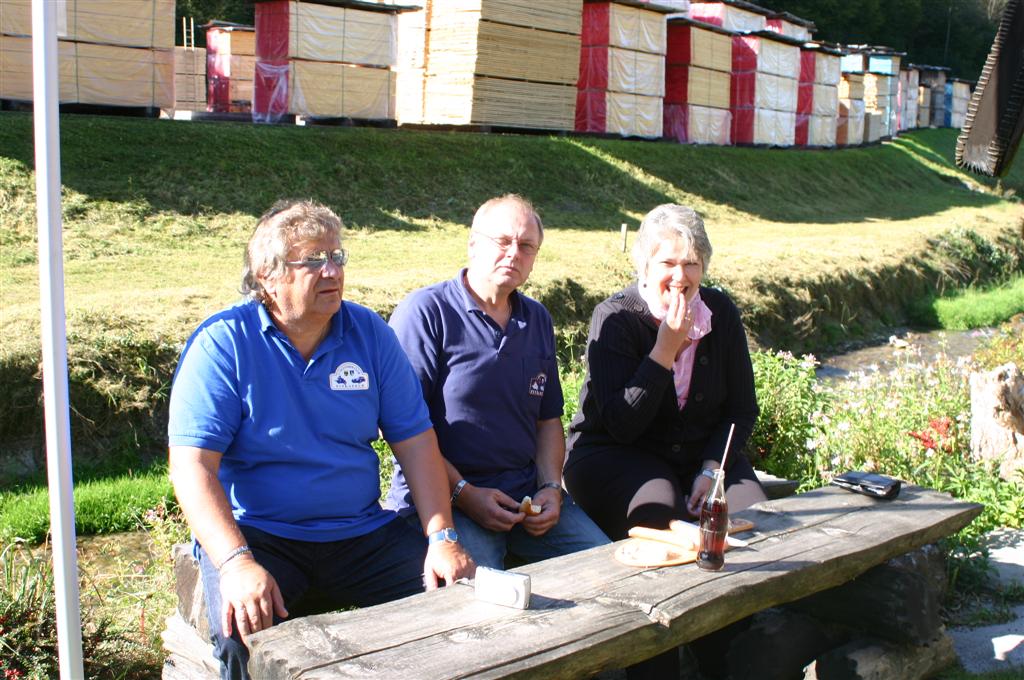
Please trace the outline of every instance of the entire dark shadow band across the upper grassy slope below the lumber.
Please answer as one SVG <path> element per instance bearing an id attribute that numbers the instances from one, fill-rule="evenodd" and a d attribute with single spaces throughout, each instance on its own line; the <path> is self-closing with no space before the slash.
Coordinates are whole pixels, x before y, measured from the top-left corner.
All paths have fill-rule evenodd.
<path id="1" fill-rule="evenodd" d="M 0 120 L 0 154 L 31 168 L 31 117 L 8 112 Z M 255 218 L 281 198 L 311 197 L 350 226 L 402 230 L 432 220 L 468 224 L 480 203 L 514 192 L 549 223 L 603 229 L 670 201 L 819 223 L 999 201 L 957 178 L 951 130 L 821 152 L 81 115 L 60 123 L 65 185 L 143 214 Z M 1015 166 L 1011 177 L 1022 176 Z"/>

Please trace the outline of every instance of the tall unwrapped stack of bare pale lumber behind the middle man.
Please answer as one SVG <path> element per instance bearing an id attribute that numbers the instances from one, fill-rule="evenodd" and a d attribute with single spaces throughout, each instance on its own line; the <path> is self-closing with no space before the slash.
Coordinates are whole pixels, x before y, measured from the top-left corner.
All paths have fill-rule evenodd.
<path id="1" fill-rule="evenodd" d="M 572 129 L 583 0 L 425 4 L 399 23 L 400 122 Z"/>

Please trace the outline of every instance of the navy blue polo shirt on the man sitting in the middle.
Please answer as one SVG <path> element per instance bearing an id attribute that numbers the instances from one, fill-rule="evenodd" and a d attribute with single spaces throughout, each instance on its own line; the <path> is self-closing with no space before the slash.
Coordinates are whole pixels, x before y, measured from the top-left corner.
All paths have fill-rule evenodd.
<path id="1" fill-rule="evenodd" d="M 514 499 L 537 491 L 537 421 L 562 415 L 551 314 L 513 293 L 503 332 L 466 288 L 465 269 L 409 295 L 389 324 L 420 378 L 441 454 L 472 484 Z M 385 505 L 411 512 L 395 466 Z"/>

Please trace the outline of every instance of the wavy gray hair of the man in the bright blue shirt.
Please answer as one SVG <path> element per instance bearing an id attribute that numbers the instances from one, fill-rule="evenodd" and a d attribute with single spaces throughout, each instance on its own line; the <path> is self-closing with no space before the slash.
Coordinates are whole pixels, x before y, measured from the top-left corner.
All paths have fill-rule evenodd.
<path id="1" fill-rule="evenodd" d="M 279 201 L 256 222 L 249 238 L 242 267 L 240 292 L 258 302 L 266 301 L 260 279 L 285 272 L 288 251 L 302 241 L 337 236 L 341 241 L 341 218 L 314 201 Z"/>

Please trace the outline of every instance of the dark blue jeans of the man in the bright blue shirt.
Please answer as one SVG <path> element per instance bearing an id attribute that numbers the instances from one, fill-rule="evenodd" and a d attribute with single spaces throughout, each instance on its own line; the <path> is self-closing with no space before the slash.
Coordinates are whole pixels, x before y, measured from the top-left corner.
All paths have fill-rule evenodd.
<path id="1" fill-rule="evenodd" d="M 291 619 L 345 606 L 370 606 L 423 592 L 423 535 L 395 518 L 364 536 L 329 543 L 293 541 L 241 526 L 256 561 L 270 572 Z M 207 618 L 214 656 L 223 680 L 249 678 L 249 649 L 238 630 L 225 637 L 220 627 L 220 573 L 202 546 Z M 281 620 L 274 615 L 274 624 Z"/>

